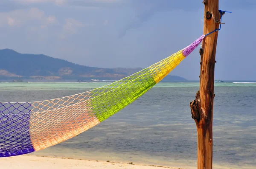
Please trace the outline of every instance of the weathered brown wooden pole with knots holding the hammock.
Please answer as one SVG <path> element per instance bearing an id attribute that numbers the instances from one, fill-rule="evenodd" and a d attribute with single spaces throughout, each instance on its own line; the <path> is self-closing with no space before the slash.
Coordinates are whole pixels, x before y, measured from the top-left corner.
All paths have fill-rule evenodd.
<path id="1" fill-rule="evenodd" d="M 204 0 L 204 34 L 219 28 L 221 14 L 218 0 Z M 200 49 L 200 90 L 190 102 L 192 118 L 198 134 L 198 169 L 212 169 L 212 115 L 214 68 L 218 31 L 207 35 Z"/>

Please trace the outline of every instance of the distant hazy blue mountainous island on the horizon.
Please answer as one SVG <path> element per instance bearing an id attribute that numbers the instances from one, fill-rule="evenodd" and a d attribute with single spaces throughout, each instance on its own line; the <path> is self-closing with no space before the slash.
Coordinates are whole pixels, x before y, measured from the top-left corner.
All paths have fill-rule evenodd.
<path id="1" fill-rule="evenodd" d="M 0 50 L 0 79 L 3 80 L 119 80 L 143 68 L 96 68 L 78 65 L 43 54 L 20 54 Z M 180 76 L 166 76 L 163 82 L 184 82 Z"/>

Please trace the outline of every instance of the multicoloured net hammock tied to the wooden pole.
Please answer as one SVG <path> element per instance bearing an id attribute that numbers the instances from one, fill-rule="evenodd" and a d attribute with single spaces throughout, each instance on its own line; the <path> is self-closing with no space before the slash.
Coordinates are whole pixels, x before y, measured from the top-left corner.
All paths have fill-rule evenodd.
<path id="1" fill-rule="evenodd" d="M 0 102 L 0 157 L 53 146 L 96 126 L 168 75 L 204 39 L 109 85 L 58 99 Z"/>

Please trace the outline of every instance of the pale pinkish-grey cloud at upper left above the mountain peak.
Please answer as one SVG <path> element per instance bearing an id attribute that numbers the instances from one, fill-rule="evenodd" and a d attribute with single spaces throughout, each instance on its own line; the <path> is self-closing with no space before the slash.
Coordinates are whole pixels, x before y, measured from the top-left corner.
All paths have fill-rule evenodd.
<path id="1" fill-rule="evenodd" d="M 56 22 L 55 16 L 47 16 L 44 11 L 38 8 L 21 9 L 0 13 L 0 25 L 3 26 L 22 26 L 32 25 L 49 25 Z"/>

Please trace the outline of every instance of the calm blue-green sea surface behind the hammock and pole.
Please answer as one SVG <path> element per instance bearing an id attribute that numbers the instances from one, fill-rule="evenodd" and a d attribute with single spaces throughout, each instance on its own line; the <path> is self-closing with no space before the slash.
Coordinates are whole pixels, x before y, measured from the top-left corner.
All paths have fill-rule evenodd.
<path id="1" fill-rule="evenodd" d="M 108 83 L 1 82 L 0 101 L 70 96 Z M 197 132 L 189 102 L 198 82 L 159 83 L 115 115 L 80 135 L 31 155 L 196 166 Z M 256 83 L 215 83 L 214 168 L 256 168 Z"/>

